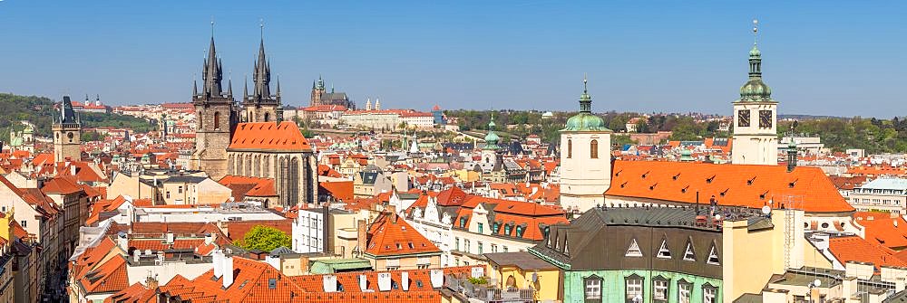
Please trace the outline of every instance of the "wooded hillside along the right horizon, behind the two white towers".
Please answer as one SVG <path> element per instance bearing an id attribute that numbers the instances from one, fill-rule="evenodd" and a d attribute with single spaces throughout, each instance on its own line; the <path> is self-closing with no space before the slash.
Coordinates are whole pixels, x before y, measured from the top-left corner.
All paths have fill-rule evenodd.
<path id="1" fill-rule="evenodd" d="M 487 110 L 447 110 L 448 117 L 459 119 L 461 131 L 486 131 L 491 111 Z M 535 110 L 500 110 L 494 112 L 497 128 L 506 131 L 512 137 L 526 137 L 536 134 L 545 142 L 557 144 L 560 130 L 567 118 L 574 112 L 555 112 L 553 118 L 542 119 L 541 111 Z M 629 137 L 620 136 L 627 131 L 627 122 L 632 118 L 643 117 L 633 112 L 606 112 L 598 114 L 605 125 L 614 130 L 614 144 L 629 143 Z M 721 131 L 717 116 L 701 114 L 649 114 L 645 122 L 640 122 L 637 129 L 642 133 L 671 131 L 671 140 L 692 141 L 706 137 L 730 137 L 730 132 Z M 705 119 L 705 117 L 713 119 Z M 791 118 L 790 116 L 784 116 Z M 834 151 L 847 148 L 863 148 L 867 153 L 905 153 L 907 152 L 907 118 L 838 118 L 796 116 L 798 126 L 795 132 L 805 136 L 822 137 L 825 147 Z M 792 120 L 778 122 L 778 136 L 788 136 Z M 731 127 L 733 131 L 733 126 Z"/>

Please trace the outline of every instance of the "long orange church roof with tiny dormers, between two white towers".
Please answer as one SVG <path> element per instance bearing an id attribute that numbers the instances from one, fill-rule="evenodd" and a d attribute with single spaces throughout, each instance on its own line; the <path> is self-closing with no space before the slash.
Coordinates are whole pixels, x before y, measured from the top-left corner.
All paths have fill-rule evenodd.
<path id="1" fill-rule="evenodd" d="M 606 195 L 648 198 L 677 203 L 706 204 L 714 196 L 719 205 L 780 207 L 785 197 L 798 202 L 786 207 L 807 213 L 849 213 L 834 184 L 818 167 L 715 165 L 705 163 L 614 161 Z"/>

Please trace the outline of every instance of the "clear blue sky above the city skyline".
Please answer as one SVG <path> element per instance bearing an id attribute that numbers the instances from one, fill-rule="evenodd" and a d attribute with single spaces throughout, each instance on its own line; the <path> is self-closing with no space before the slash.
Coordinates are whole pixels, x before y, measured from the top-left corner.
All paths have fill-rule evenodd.
<path id="1" fill-rule="evenodd" d="M 729 114 L 757 18 L 781 113 L 891 118 L 907 115 L 905 11 L 903 1 L 5 0 L 0 91 L 189 101 L 213 16 L 237 94 L 264 18 L 271 70 L 294 106 L 320 74 L 385 108 L 575 110 L 586 72 L 595 111 Z"/>

